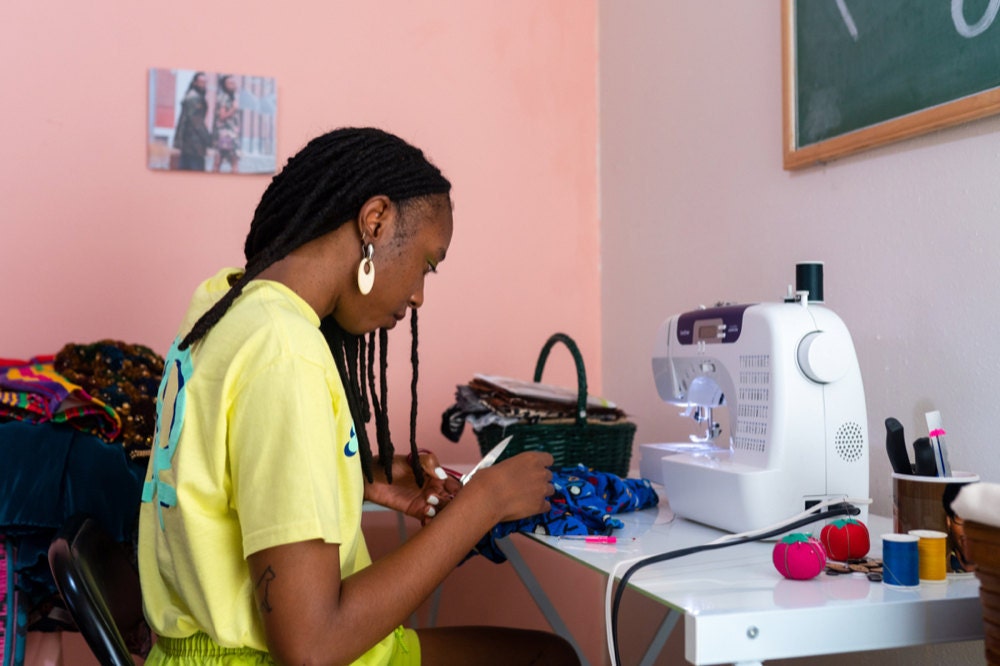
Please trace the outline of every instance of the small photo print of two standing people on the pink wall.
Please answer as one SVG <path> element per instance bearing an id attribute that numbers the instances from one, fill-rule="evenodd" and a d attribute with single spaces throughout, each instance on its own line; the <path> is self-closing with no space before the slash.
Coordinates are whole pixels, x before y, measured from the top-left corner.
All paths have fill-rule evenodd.
<path id="1" fill-rule="evenodd" d="M 274 173 L 277 96 L 269 77 L 150 69 L 149 168 Z"/>

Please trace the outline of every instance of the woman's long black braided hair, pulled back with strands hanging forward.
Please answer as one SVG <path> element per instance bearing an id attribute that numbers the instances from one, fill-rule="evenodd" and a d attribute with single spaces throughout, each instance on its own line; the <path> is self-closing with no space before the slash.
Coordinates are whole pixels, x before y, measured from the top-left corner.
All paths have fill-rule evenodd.
<path id="1" fill-rule="evenodd" d="M 447 195 L 450 191 L 451 183 L 420 149 L 382 130 L 341 128 L 313 139 L 288 160 L 264 191 L 243 247 L 246 257 L 243 275 L 233 281 L 229 291 L 195 322 L 179 348 L 187 349 L 203 338 L 244 287 L 264 269 L 309 241 L 357 219 L 361 207 L 372 197 L 388 197 L 402 215 L 408 204 L 433 195 Z M 416 309 L 411 309 L 411 313 L 414 375 L 411 384 L 410 460 L 417 483 L 422 485 L 423 472 L 414 433 L 417 403 Z M 366 428 L 358 424 L 368 423 L 374 412 L 379 456 L 386 478 L 391 482 L 393 446 L 385 404 L 387 331 L 378 331 L 380 390 L 376 392 L 375 332 L 369 334 L 366 341 L 364 336 L 343 330 L 332 316 L 321 321 L 320 330 L 330 346 L 347 391 L 365 478 L 369 482 L 373 480 L 373 457 Z"/>

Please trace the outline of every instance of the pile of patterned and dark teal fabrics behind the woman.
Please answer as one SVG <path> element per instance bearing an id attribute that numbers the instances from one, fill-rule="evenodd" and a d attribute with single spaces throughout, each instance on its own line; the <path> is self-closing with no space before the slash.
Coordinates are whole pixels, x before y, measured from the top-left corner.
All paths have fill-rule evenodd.
<path id="1" fill-rule="evenodd" d="M 67 518 L 87 513 L 130 546 L 155 432 L 163 359 L 113 340 L 0 359 L 0 656 L 28 630 L 72 629 L 48 568 Z"/>

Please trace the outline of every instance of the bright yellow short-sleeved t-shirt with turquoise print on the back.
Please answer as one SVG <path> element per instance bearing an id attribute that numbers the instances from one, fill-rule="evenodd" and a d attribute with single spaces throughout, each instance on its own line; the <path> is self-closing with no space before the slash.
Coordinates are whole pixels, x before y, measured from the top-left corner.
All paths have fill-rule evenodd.
<path id="1" fill-rule="evenodd" d="M 197 289 L 181 337 L 232 273 Z M 175 343 L 160 391 L 139 520 L 146 617 L 161 636 L 266 651 L 248 555 L 322 539 L 340 544 L 344 577 L 371 563 L 358 440 L 319 318 L 284 285 L 252 281 L 193 348 Z"/>

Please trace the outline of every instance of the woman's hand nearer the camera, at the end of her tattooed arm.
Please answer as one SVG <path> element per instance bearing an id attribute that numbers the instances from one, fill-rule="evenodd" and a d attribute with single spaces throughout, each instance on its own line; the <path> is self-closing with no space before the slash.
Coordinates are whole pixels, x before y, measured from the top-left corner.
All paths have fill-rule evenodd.
<path id="1" fill-rule="evenodd" d="M 544 513 L 555 492 L 549 470 L 553 462 L 551 453 L 525 451 L 477 472 L 467 490 L 476 487 L 488 493 L 498 523 Z"/>

